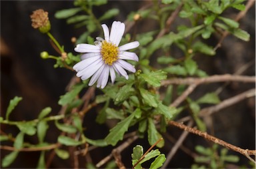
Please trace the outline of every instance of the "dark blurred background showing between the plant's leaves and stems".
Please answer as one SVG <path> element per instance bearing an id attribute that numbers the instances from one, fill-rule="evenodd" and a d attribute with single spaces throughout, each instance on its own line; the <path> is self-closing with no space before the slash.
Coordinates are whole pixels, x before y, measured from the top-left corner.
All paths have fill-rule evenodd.
<path id="1" fill-rule="evenodd" d="M 107 5 L 95 7 L 95 13 L 102 15 L 105 9 L 109 7 L 118 7 L 120 15 L 116 20 L 125 21 L 127 14 L 136 11 L 147 1 L 109 1 Z M 48 51 L 52 55 L 58 55 L 51 47 L 46 35 L 31 27 L 30 15 L 36 9 L 44 9 L 49 12 L 51 21 L 51 33 L 55 38 L 65 46 L 65 51 L 73 51 L 71 37 L 78 37 L 83 33 L 82 29 L 74 29 L 73 25 L 67 25 L 65 20 L 55 19 L 54 14 L 61 9 L 73 7 L 73 1 L 1 1 L 1 116 L 5 116 L 9 100 L 14 96 L 22 96 L 23 100 L 11 114 L 11 120 L 32 120 L 37 118 L 39 112 L 46 106 L 50 106 L 53 111 L 52 115 L 59 112 L 60 106 L 57 104 L 59 96 L 65 94 L 65 88 L 74 73 L 67 69 L 54 69 L 55 61 L 51 59 L 42 60 L 41 51 Z M 235 11 L 237 13 L 237 11 Z M 234 11 L 227 15 L 234 17 Z M 110 25 L 112 21 L 107 23 Z M 179 22 L 175 22 L 179 25 Z M 152 23 L 150 24 L 152 25 Z M 149 26 L 141 24 L 139 29 L 143 32 L 148 30 Z M 241 28 L 249 32 L 251 40 L 243 42 L 233 36 L 229 36 L 223 41 L 223 46 L 217 50 L 216 57 L 195 57 L 199 67 L 209 75 L 235 73 L 244 65 L 249 67 L 242 75 L 255 76 L 255 5 L 247 13 L 246 17 L 241 20 Z M 86 30 L 85 30 L 86 31 Z M 217 37 L 209 39 L 210 45 L 216 45 Z M 213 85 L 211 88 L 216 89 L 221 84 Z M 221 92 L 221 100 L 235 96 L 255 84 L 230 83 Z M 201 96 L 209 90 L 209 86 L 200 86 L 195 97 Z M 91 119 L 90 119 L 91 118 Z M 94 121 L 95 115 L 87 117 L 85 121 Z M 249 98 L 239 102 L 235 106 L 225 108 L 221 112 L 213 115 L 215 127 L 215 136 L 241 148 L 255 149 L 255 98 Z M 89 125 L 91 124 L 91 125 Z M 87 136 L 93 138 L 103 138 L 107 134 L 107 128 L 98 125 L 95 122 L 87 124 Z M 19 131 L 12 126 L 1 126 L 1 131 L 12 133 L 15 136 Z M 179 137 L 180 130 L 168 128 L 173 137 Z M 58 130 L 53 128 L 47 134 L 48 142 L 56 142 Z M 90 135 L 91 134 L 91 135 Z M 37 143 L 35 138 L 26 138 L 27 142 Z M 137 140 L 135 144 L 144 144 L 149 147 L 143 140 Z M 193 148 L 197 144 L 207 144 L 203 138 L 189 134 L 185 141 L 185 146 Z M 173 142 L 166 141 L 163 152 L 171 150 Z M 97 148 L 91 156 L 95 164 L 103 157 L 107 156 L 112 147 Z M 9 151 L 1 150 L 1 158 Z M 237 156 L 239 154 L 233 153 Z M 122 152 L 123 162 L 126 166 L 131 165 L 131 148 Z M 246 165 L 247 158 L 240 156 L 239 164 Z M 21 152 L 10 168 L 35 168 L 39 153 Z M 83 160 L 81 160 L 83 162 Z M 169 168 L 190 168 L 193 163 L 191 156 L 188 156 L 181 150 L 171 163 Z M 81 164 L 84 166 L 85 164 Z M 54 158 L 51 168 L 71 168 L 69 160 L 60 160 Z"/>

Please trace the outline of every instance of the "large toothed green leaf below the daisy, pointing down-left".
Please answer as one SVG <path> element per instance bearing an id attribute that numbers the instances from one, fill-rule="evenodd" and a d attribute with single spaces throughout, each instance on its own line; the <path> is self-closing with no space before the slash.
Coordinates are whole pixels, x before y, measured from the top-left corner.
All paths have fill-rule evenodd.
<path id="1" fill-rule="evenodd" d="M 134 116 L 135 114 L 133 113 L 124 120 L 121 120 L 121 122 L 117 123 L 115 127 L 111 128 L 109 134 L 105 138 L 107 144 L 115 146 L 119 140 L 123 139 L 123 134 L 128 130 L 129 124 L 131 123 L 131 120 L 133 120 Z"/>

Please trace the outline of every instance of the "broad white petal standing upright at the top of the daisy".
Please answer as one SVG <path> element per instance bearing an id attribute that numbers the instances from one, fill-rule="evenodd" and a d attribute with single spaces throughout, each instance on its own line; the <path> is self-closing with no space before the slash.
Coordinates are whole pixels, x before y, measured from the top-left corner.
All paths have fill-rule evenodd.
<path id="1" fill-rule="evenodd" d="M 125 24 L 121 23 L 120 21 L 113 21 L 109 41 L 118 46 L 123 37 L 124 32 Z"/>

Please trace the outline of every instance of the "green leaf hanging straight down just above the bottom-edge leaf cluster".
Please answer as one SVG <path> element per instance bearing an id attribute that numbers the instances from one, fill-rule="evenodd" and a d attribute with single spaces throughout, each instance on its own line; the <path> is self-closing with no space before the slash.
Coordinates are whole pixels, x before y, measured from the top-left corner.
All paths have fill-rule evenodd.
<path id="1" fill-rule="evenodd" d="M 148 136 L 148 140 L 149 140 L 149 144 L 153 145 L 155 144 L 155 142 L 157 142 L 157 140 L 159 140 L 160 138 L 162 138 L 161 134 L 159 134 L 159 132 L 157 131 L 157 128 L 155 128 L 155 124 L 153 122 L 152 118 L 148 118 L 148 128 L 147 128 L 147 136 Z M 159 142 L 157 144 L 157 147 L 161 148 L 163 147 L 164 142 L 163 140 L 161 142 Z"/>

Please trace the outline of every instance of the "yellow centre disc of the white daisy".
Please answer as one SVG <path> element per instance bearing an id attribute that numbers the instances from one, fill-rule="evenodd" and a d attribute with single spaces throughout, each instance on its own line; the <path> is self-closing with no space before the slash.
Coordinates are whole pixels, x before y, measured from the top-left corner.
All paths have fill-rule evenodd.
<path id="1" fill-rule="evenodd" d="M 101 43 L 101 56 L 107 65 L 112 65 L 118 59 L 118 47 L 113 43 L 103 41 Z"/>

